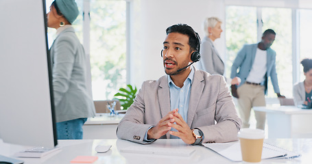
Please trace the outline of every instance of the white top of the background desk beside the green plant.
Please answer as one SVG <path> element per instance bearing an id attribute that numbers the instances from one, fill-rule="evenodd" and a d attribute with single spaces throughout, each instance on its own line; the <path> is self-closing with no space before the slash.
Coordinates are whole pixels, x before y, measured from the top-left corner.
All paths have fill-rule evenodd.
<path id="1" fill-rule="evenodd" d="M 96 113 L 94 118 L 88 118 L 84 125 L 90 124 L 119 124 L 125 114 L 111 116 L 110 113 Z"/>

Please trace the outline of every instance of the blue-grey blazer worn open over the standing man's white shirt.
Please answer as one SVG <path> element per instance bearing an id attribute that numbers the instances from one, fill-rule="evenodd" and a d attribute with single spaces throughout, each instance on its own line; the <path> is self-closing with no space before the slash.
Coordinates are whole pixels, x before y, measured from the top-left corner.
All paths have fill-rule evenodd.
<path id="1" fill-rule="evenodd" d="M 231 76 L 241 78 L 241 86 L 245 83 L 250 70 L 252 69 L 252 64 L 254 64 L 254 57 L 256 56 L 256 49 L 258 44 L 246 44 L 243 48 L 237 53 L 237 57 L 235 58 L 232 68 L 231 68 Z M 267 49 L 267 73 L 266 78 L 263 83 L 265 85 L 265 92 L 267 91 L 267 77 L 271 77 L 272 85 L 275 93 L 280 93 L 280 87 L 278 87 L 277 73 L 276 73 L 276 53 L 271 48 Z M 239 69 L 239 72 L 237 70 Z"/>

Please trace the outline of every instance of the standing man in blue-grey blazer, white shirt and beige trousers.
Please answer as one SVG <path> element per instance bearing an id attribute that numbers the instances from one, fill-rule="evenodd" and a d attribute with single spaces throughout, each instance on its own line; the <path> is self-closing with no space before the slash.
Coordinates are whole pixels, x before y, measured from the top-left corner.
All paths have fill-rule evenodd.
<path id="1" fill-rule="evenodd" d="M 231 78 L 239 77 L 237 94 L 239 96 L 239 114 L 243 120 L 243 128 L 249 128 L 250 110 L 252 107 L 265 106 L 267 92 L 267 77 L 271 78 L 274 92 L 280 98 L 278 79 L 276 74 L 276 52 L 270 48 L 276 33 L 272 29 L 264 31 L 262 40 L 258 44 L 244 45 L 235 58 Z M 239 72 L 237 70 L 239 69 Z M 256 128 L 265 128 L 265 112 L 254 111 Z"/>

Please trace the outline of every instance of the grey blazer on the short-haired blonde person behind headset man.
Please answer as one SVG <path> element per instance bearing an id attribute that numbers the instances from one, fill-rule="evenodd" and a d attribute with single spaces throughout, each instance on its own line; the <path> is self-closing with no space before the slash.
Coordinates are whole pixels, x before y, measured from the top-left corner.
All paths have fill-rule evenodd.
<path id="1" fill-rule="evenodd" d="M 210 38 L 205 37 L 202 40 L 200 55 L 201 59 L 197 64 L 198 69 L 209 72 L 210 74 L 224 75 L 224 62 Z"/>

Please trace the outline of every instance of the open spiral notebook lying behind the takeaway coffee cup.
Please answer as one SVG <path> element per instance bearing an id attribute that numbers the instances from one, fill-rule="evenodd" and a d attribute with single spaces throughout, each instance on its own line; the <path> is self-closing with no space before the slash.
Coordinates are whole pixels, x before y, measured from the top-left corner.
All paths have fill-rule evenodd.
<path id="1" fill-rule="evenodd" d="M 241 145 L 239 141 L 229 143 L 203 143 L 203 146 L 217 152 L 231 161 L 242 161 Z M 261 159 L 294 158 L 297 156 L 300 156 L 300 154 L 283 148 L 278 148 L 277 146 L 272 146 L 269 143 L 263 143 Z"/>

